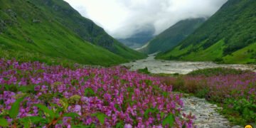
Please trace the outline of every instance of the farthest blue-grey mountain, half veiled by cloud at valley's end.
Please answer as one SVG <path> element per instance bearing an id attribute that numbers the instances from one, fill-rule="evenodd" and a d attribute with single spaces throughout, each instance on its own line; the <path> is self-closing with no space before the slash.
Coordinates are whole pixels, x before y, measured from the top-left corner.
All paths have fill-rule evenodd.
<path id="1" fill-rule="evenodd" d="M 143 31 L 134 33 L 129 38 L 118 38 L 117 40 L 129 48 L 140 48 L 154 38 L 154 26 L 146 26 Z"/>

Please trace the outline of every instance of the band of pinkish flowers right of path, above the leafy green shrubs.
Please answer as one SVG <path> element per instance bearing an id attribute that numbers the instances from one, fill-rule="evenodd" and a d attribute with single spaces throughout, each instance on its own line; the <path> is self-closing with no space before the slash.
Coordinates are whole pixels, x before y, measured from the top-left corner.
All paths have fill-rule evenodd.
<path id="1" fill-rule="evenodd" d="M 256 104 L 256 73 L 188 76 L 184 78 L 185 85 L 196 83 L 197 89 L 207 90 L 209 100 L 224 102 L 227 98 L 235 100 L 246 99 Z"/>

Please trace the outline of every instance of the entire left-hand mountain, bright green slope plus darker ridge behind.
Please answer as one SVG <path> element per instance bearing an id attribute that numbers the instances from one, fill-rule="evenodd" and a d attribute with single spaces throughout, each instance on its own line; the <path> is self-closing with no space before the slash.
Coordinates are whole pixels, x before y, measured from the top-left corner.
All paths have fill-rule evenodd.
<path id="1" fill-rule="evenodd" d="M 9 53 L 9 57 L 43 56 L 38 60 L 93 65 L 145 56 L 116 41 L 63 0 L 0 0 L 0 48 L 1 57 Z"/>

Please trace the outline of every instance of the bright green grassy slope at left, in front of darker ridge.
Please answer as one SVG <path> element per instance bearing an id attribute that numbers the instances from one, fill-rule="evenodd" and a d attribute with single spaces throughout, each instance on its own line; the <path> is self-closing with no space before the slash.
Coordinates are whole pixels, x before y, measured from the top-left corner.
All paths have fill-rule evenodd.
<path id="1" fill-rule="evenodd" d="M 83 41 L 61 23 L 26 1 L 6 1 L 1 4 L 0 13 L 1 21 L 5 21 L 4 31 L 0 35 L 0 47 L 11 55 L 16 55 L 13 54 L 14 51 L 24 51 L 24 55 L 28 57 L 41 54 L 47 58 L 63 58 L 94 65 L 127 62 L 119 55 Z M 40 23 L 33 23 L 33 19 L 40 20 Z M 6 54 L 2 53 L 1 57 L 5 57 L 4 55 Z"/>

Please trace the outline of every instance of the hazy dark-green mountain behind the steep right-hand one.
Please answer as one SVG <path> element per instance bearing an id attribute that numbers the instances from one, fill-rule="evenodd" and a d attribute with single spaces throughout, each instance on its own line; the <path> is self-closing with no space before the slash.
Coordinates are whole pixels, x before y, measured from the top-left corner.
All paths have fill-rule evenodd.
<path id="1" fill-rule="evenodd" d="M 143 53 L 156 53 L 165 52 L 178 43 L 183 41 L 188 35 L 193 33 L 201 24 L 206 21 L 205 18 L 190 18 L 183 21 L 179 21 L 166 31 L 160 33 L 153 40 L 146 45 L 145 48 L 140 49 Z"/>

